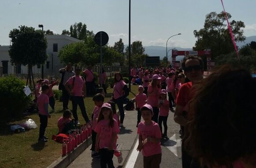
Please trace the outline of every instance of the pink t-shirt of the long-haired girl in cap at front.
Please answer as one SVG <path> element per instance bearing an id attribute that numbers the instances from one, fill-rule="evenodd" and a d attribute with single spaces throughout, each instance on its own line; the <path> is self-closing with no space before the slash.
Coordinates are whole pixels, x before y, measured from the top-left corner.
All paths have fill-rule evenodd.
<path id="1" fill-rule="evenodd" d="M 95 132 L 100 135 L 99 148 L 109 147 L 113 133 L 119 133 L 117 121 L 114 119 L 114 125 L 111 128 L 109 120 L 100 120 L 96 125 Z M 113 142 L 112 147 L 114 150 L 116 149 L 116 141 Z"/>

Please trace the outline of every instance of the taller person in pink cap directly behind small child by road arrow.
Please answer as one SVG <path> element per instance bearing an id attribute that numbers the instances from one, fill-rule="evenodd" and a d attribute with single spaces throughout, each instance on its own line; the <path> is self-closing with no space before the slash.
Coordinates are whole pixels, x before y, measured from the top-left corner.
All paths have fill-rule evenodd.
<path id="1" fill-rule="evenodd" d="M 152 106 L 154 116 L 152 120 L 158 123 L 158 98 L 161 93 L 161 86 L 160 86 L 160 77 L 158 75 L 153 75 L 152 81 L 148 85 L 148 104 Z"/>

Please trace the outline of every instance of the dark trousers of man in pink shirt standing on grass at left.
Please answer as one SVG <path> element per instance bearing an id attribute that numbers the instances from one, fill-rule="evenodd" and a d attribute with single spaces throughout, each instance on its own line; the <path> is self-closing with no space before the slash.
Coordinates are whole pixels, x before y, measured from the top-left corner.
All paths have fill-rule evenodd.
<path id="1" fill-rule="evenodd" d="M 85 119 L 85 122 L 89 122 L 89 118 L 85 110 L 85 102 L 83 97 L 72 96 L 72 114 L 75 121 L 78 121 L 78 114 L 77 114 L 78 106 L 80 107 L 80 110 L 82 112 L 83 118 Z"/>

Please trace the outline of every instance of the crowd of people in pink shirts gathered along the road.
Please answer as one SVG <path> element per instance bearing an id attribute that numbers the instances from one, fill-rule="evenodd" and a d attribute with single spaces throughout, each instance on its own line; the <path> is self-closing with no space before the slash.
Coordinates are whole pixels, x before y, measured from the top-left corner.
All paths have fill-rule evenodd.
<path id="1" fill-rule="evenodd" d="M 75 67 L 73 72 L 71 64 L 59 70 L 62 73 L 63 100 L 66 100 L 63 101 L 65 112 L 58 122 L 61 125 L 59 132 L 72 121 L 67 109 L 70 97 L 74 124 L 79 124 L 77 106 L 81 108 L 85 122 L 89 123 L 83 98 L 88 87 L 93 85 L 91 69 L 89 66 L 83 71 L 86 79 L 80 76 L 81 68 Z M 160 167 L 160 140 L 167 138 L 169 111 L 174 112 L 174 121 L 181 125 L 182 168 L 255 168 L 256 80 L 249 71 L 230 66 L 213 71 L 205 79 L 203 72 L 203 61 L 197 56 L 184 57 L 182 68 L 178 69 L 131 69 L 131 82 L 138 85 L 135 97 L 137 121 L 134 125 L 139 134 L 137 150 L 142 151 L 144 168 Z M 106 75 L 100 77 L 101 81 L 104 78 Z M 93 96 L 92 157 L 100 158 L 101 168 L 107 165 L 114 168 L 114 155 L 122 162 L 122 153 L 116 150 L 116 143 L 124 124 L 123 104 L 129 89 L 121 73 L 115 73 L 114 80 L 110 102 L 104 103 L 105 88 L 98 89 Z M 52 86 L 47 81 L 38 83 L 45 83 L 37 100 L 41 122 L 39 140 L 44 141 L 47 119 L 50 118 L 48 104 Z M 54 103 L 51 104 L 54 110 Z"/>

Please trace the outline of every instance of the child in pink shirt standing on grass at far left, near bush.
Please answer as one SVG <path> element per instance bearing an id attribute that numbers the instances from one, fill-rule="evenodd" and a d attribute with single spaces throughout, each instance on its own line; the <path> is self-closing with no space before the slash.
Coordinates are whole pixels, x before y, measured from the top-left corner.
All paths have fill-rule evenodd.
<path id="1" fill-rule="evenodd" d="M 47 142 L 48 137 L 45 136 L 45 129 L 47 127 L 48 118 L 51 118 L 51 115 L 48 111 L 49 98 L 47 93 L 49 91 L 49 86 L 46 84 L 42 85 L 42 93 L 37 99 L 38 114 L 40 118 L 40 129 L 39 129 L 39 142 Z"/>

